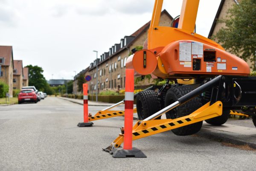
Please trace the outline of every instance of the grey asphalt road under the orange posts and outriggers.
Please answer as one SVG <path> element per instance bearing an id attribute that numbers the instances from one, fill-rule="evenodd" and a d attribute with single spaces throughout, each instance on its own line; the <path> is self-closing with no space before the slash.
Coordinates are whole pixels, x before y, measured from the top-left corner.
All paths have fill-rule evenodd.
<path id="1" fill-rule="evenodd" d="M 123 117 L 79 128 L 82 116 L 81 105 L 55 97 L 0 107 L 0 171 L 256 170 L 256 151 L 171 131 L 134 141 L 147 158 L 116 159 L 102 148 L 118 136 Z"/>

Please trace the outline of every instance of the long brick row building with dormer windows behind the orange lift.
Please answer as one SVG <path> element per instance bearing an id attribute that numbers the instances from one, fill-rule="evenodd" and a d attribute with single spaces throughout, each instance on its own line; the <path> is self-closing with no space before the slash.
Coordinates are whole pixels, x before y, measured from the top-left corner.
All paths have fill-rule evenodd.
<path id="1" fill-rule="evenodd" d="M 172 16 L 163 10 L 160 17 L 160 26 L 171 26 Z M 150 26 L 150 21 L 145 23 L 136 32 L 129 36 L 121 38 L 119 43 L 110 46 L 108 52 L 99 55 L 98 60 L 94 60 L 90 66 L 81 72 L 85 75 L 91 75 L 92 80 L 88 81 L 90 93 L 95 93 L 96 84 L 98 84 L 98 92 L 101 90 L 120 90 L 125 87 L 125 62 L 131 52 L 131 49 L 136 46 L 143 46 L 147 39 L 147 31 Z M 98 83 L 96 83 L 96 63 L 98 64 Z M 74 77 L 73 93 L 77 91 L 77 74 Z M 150 81 L 145 81 L 143 84 L 149 84 Z"/>

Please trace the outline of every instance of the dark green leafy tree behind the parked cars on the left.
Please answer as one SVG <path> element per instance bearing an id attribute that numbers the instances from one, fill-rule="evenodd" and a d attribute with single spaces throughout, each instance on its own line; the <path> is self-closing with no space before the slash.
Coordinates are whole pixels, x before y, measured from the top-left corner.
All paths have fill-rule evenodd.
<path id="1" fill-rule="evenodd" d="M 29 68 L 29 86 L 35 86 L 36 89 L 44 91 L 47 88 L 47 81 L 44 78 L 44 70 L 37 65 L 27 65 Z"/>

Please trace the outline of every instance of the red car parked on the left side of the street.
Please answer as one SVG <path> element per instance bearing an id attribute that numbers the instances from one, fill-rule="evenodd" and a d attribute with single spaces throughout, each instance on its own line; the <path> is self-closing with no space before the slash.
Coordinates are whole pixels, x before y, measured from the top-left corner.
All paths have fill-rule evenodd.
<path id="1" fill-rule="evenodd" d="M 25 101 L 32 101 L 37 103 L 37 96 L 33 89 L 23 89 L 18 95 L 18 104 Z"/>

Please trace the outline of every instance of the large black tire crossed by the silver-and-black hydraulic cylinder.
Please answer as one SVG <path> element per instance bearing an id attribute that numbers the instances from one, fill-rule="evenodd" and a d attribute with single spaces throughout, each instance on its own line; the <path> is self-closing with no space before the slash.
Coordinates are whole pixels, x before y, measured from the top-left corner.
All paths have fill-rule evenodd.
<path id="1" fill-rule="evenodd" d="M 194 90 L 190 86 L 176 86 L 170 88 L 166 93 L 165 106 L 169 106 L 173 102 L 177 101 L 180 97 L 186 95 L 187 93 Z M 187 101 L 185 104 L 182 104 L 169 112 L 166 113 L 167 119 L 176 119 L 182 116 L 187 116 L 193 113 L 195 110 L 202 106 L 201 100 L 198 97 Z M 203 122 L 196 122 L 194 124 L 186 125 L 180 128 L 173 129 L 172 132 L 178 136 L 187 136 L 197 133 L 201 127 Z"/>

